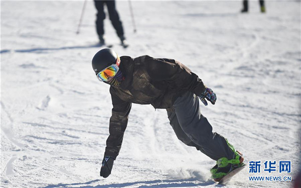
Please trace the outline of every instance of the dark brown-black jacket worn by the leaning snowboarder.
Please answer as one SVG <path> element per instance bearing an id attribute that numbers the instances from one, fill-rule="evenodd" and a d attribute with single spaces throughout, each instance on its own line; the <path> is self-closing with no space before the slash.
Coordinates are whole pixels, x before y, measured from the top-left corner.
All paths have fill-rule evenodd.
<path id="1" fill-rule="evenodd" d="M 131 103 L 168 109 L 186 91 L 200 96 L 205 89 L 202 80 L 176 60 L 155 59 L 147 55 L 134 59 L 121 56 L 120 59 L 125 80 L 118 88 L 110 87 L 113 109 L 105 148 L 105 155 L 113 158 L 121 148 Z"/>

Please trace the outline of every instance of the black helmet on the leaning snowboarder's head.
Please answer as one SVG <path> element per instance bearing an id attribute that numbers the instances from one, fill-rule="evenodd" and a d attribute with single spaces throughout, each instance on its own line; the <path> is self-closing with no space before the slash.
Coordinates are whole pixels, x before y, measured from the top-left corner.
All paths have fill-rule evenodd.
<path id="1" fill-rule="evenodd" d="M 106 67 L 115 64 L 118 55 L 116 52 L 109 48 L 104 48 L 98 51 L 92 59 L 92 67 L 95 73 L 105 69 Z M 119 65 L 119 64 L 118 64 Z"/>

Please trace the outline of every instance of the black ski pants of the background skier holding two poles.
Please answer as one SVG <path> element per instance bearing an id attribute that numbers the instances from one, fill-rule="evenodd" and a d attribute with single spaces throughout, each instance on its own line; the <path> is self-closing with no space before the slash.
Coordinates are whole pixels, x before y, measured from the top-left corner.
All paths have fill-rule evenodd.
<path id="1" fill-rule="evenodd" d="M 104 13 L 104 4 L 108 8 L 109 18 L 111 23 L 116 30 L 116 33 L 120 39 L 124 39 L 122 22 L 119 19 L 119 15 L 116 11 L 115 1 L 97 1 L 94 0 L 95 7 L 97 9 L 97 18 L 96 18 L 96 30 L 99 37 L 102 37 L 104 34 L 104 25 L 103 20 L 105 19 Z"/>

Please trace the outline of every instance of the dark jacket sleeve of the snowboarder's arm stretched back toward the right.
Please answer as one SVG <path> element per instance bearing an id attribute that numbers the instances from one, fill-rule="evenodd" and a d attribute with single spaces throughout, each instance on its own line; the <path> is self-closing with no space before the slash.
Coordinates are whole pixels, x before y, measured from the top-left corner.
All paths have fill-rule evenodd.
<path id="1" fill-rule="evenodd" d="M 174 59 L 145 57 L 148 75 L 154 81 L 167 81 L 175 89 L 185 89 L 200 96 L 205 89 L 203 81 L 188 67 Z"/>

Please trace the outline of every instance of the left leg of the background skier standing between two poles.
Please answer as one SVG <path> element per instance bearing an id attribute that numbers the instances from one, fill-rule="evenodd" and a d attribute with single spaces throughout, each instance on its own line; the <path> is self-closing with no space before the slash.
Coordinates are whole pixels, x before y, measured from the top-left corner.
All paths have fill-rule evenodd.
<path id="1" fill-rule="evenodd" d="M 104 29 L 103 29 L 103 20 L 105 19 L 105 14 L 103 10 L 104 1 L 94 1 L 95 8 L 97 10 L 96 14 L 96 31 L 99 38 L 100 45 L 104 45 Z"/>

